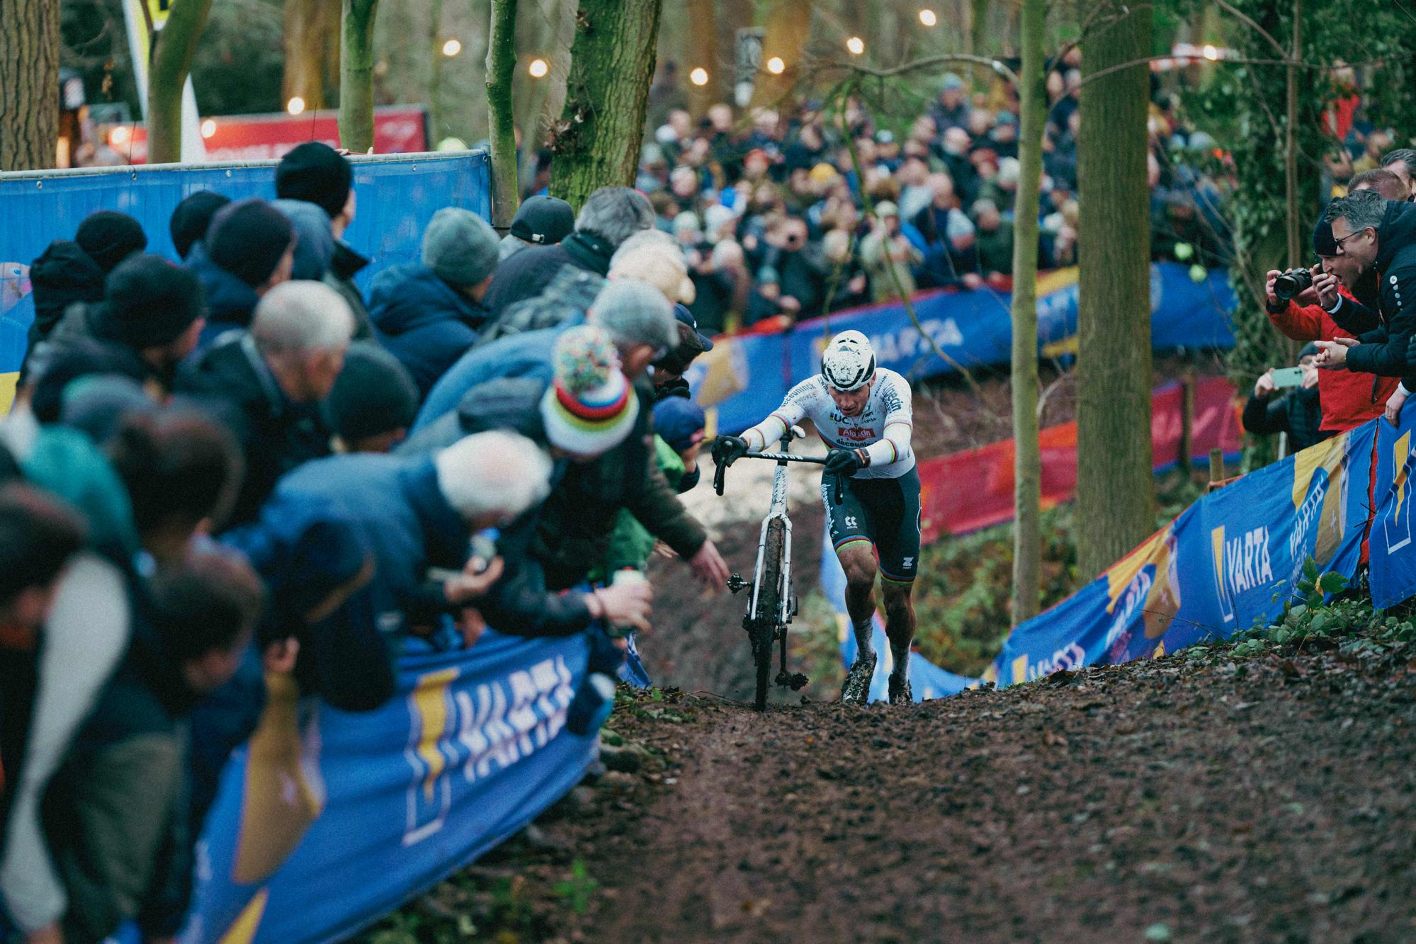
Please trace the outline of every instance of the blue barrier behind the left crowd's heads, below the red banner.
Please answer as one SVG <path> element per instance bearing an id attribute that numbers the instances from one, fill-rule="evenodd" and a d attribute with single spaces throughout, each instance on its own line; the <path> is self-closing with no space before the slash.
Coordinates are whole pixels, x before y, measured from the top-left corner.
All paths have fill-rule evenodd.
<path id="1" fill-rule="evenodd" d="M 355 280 L 367 290 L 381 269 L 415 262 L 423 229 L 443 207 L 466 207 L 491 219 L 490 161 L 484 151 L 353 159 L 357 212 L 344 241 L 371 263 Z M 0 174 L 0 374 L 20 369 L 34 321 L 30 262 L 54 239 L 72 239 L 99 209 L 135 217 L 147 252 L 177 258 L 167 222 L 173 208 L 198 190 L 232 200 L 275 200 L 276 161 L 105 167 L 85 173 Z"/>

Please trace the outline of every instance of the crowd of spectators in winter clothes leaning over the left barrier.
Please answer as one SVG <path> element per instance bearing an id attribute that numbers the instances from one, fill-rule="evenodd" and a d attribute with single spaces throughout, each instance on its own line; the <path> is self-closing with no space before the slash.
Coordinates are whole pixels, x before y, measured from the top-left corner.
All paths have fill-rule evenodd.
<path id="1" fill-rule="evenodd" d="M 532 200 L 506 238 L 443 208 L 367 296 L 348 161 L 302 144 L 269 195 L 188 195 L 177 259 L 105 211 L 31 267 L 0 423 L 0 938 L 180 931 L 268 698 L 371 710 L 398 654 L 489 626 L 588 633 L 612 677 L 653 599 L 622 569 L 658 546 L 728 576 L 678 497 L 712 343 L 643 194 Z"/>

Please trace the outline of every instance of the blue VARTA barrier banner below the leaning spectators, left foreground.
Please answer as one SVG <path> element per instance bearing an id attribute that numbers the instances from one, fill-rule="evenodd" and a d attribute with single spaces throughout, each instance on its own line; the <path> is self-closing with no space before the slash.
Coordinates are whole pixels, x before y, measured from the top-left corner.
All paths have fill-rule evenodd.
<path id="1" fill-rule="evenodd" d="M 398 693 L 360 715 L 270 681 L 207 818 L 184 944 L 344 940 L 521 829 L 595 756 L 565 730 L 586 651 L 486 631 L 404 657 Z"/>

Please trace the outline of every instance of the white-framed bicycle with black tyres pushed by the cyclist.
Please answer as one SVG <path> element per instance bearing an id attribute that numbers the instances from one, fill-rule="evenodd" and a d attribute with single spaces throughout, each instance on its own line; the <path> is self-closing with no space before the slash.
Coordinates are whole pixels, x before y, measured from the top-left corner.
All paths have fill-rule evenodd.
<path id="1" fill-rule="evenodd" d="M 772 508 L 762 519 L 762 536 L 758 539 L 758 563 L 752 573 L 752 583 L 733 573 L 728 577 L 728 589 L 736 594 L 739 590 L 752 587 L 752 597 L 748 600 L 748 614 L 742 618 L 742 628 L 748 631 L 748 641 L 752 645 L 752 660 L 758 671 L 758 689 L 755 705 L 760 712 L 767 706 L 767 685 L 772 675 L 772 647 L 780 644 L 782 662 L 777 671 L 776 684 L 780 688 L 800 691 L 807 684 L 807 677 L 801 672 L 787 672 L 787 624 L 797 614 L 797 599 L 792 594 L 792 519 L 787 517 L 787 464 L 809 463 L 824 466 L 826 459 L 792 454 L 792 440 L 801 439 L 806 432 L 800 426 L 793 426 L 782 434 L 782 450 L 776 453 L 748 453 L 739 459 L 766 459 L 777 464 L 777 471 L 772 480 Z M 736 460 L 735 460 L 736 461 Z M 724 477 L 728 473 L 726 464 L 719 464 L 714 473 L 712 487 L 722 495 Z M 841 504 L 841 478 L 835 478 L 835 504 Z"/>

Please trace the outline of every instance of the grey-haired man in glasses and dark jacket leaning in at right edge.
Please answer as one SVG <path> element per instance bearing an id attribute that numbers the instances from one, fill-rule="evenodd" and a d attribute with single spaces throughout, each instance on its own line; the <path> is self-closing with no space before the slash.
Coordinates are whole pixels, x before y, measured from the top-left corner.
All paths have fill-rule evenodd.
<path id="1" fill-rule="evenodd" d="M 1348 290 L 1369 272 L 1376 273 L 1381 327 L 1361 341 L 1318 341 L 1323 350 L 1318 367 L 1405 378 L 1386 401 L 1386 419 L 1395 425 L 1408 395 L 1416 389 L 1416 374 L 1406 359 L 1416 328 L 1416 207 L 1359 190 L 1332 201 L 1323 218 L 1332 226 L 1337 249 L 1337 255 L 1324 260 L 1325 267 Z"/>

